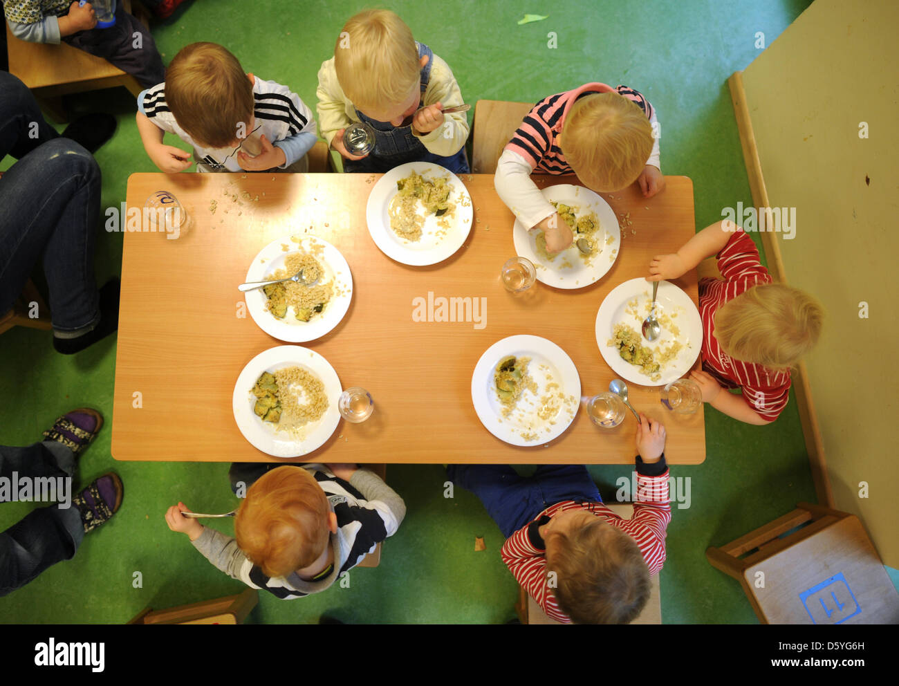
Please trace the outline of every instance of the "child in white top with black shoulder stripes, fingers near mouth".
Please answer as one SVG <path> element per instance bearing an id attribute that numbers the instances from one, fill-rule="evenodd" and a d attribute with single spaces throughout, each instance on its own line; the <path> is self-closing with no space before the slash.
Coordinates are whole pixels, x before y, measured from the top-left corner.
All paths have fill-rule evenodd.
<path id="1" fill-rule="evenodd" d="M 191 155 L 163 143 L 165 132 L 191 144 L 202 172 L 304 172 L 316 144 L 312 111 L 287 86 L 246 74 L 216 43 L 175 55 L 165 83 L 138 95 L 138 131 L 147 155 L 167 174 Z"/>

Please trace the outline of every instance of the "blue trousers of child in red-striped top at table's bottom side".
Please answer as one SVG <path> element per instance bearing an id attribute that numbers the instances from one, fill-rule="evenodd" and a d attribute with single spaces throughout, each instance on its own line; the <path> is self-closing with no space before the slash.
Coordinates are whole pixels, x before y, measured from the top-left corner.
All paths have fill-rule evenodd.
<path id="1" fill-rule="evenodd" d="M 602 502 L 583 465 L 540 465 L 532 477 L 521 477 L 509 465 L 449 465 L 447 476 L 481 499 L 507 539 L 550 505 Z"/>

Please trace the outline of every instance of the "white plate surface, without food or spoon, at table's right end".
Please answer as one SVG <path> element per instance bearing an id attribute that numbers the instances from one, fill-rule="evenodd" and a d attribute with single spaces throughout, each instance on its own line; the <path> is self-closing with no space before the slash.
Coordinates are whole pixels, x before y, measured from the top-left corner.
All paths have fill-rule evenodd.
<path id="1" fill-rule="evenodd" d="M 690 371 L 702 348 L 702 319 L 699 317 L 699 310 L 683 290 L 669 281 L 659 281 L 659 292 L 655 298 L 656 316 L 672 317 L 671 323 L 677 326 L 680 333 L 677 340 L 683 343 L 683 347 L 677 357 L 664 365 L 661 370 L 662 378 L 657 381 L 650 380 L 639 367 L 621 359 L 618 348 L 609 345 L 612 329 L 616 324 L 627 324 L 640 334 L 643 320 L 649 314 L 645 307 L 652 297 L 652 283 L 642 278 L 631 279 L 612 289 L 602 301 L 600 311 L 596 313 L 596 344 L 600 346 L 602 358 L 621 379 L 640 386 L 664 386 L 680 379 Z M 628 305 L 634 298 L 636 316 L 627 312 L 628 309 L 634 309 Z M 644 338 L 643 344 L 657 350 L 660 346 L 667 347 L 674 340 L 671 329 L 663 325 L 662 334 L 653 343 Z"/>

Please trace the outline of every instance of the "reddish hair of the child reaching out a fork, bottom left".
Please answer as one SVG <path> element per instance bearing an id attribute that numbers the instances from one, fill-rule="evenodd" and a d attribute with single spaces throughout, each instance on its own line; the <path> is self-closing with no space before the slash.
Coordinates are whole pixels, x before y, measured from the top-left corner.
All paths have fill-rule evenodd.
<path id="1" fill-rule="evenodd" d="M 247 489 L 237 511 L 237 547 L 265 575 L 289 575 L 325 551 L 329 512 L 325 491 L 306 469 L 272 469 Z"/>

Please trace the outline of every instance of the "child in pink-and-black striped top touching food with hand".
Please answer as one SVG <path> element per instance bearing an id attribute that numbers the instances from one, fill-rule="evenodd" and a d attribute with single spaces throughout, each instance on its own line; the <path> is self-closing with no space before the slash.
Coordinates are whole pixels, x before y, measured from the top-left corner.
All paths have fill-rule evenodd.
<path id="1" fill-rule="evenodd" d="M 496 165 L 494 184 L 503 202 L 547 250 L 572 243 L 572 232 L 530 174 L 577 174 L 596 192 L 639 183 L 645 198 L 665 185 L 659 163 L 653 106 L 633 88 L 593 83 L 550 95 L 521 122 Z"/>

